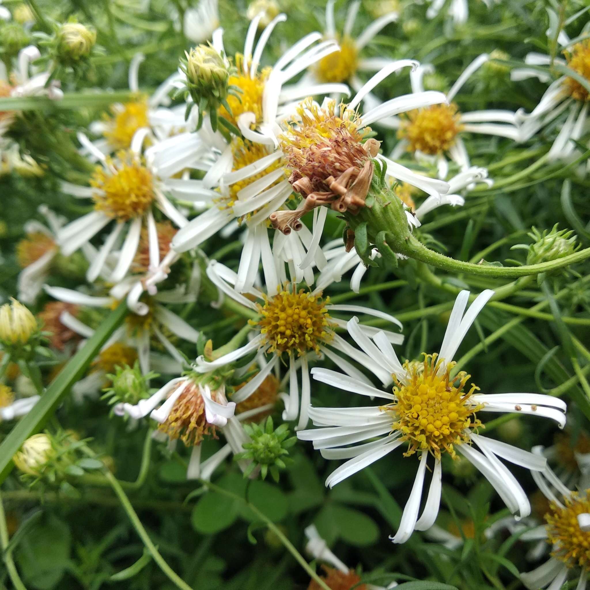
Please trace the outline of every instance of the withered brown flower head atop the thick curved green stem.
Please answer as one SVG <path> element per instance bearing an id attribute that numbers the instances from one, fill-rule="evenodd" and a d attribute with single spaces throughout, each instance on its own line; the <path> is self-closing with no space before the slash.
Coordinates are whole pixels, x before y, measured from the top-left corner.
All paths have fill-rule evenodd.
<path id="1" fill-rule="evenodd" d="M 305 197 L 297 211 L 277 211 L 270 216 L 273 226 L 284 234 L 301 228 L 300 217 L 314 207 L 329 205 L 339 212 L 358 213 L 373 176 L 379 142 L 363 143 L 368 127 L 360 128 L 358 114 L 345 104 L 328 101 L 324 108 L 312 99 L 297 109 L 291 126 L 279 137 L 289 182 Z"/>

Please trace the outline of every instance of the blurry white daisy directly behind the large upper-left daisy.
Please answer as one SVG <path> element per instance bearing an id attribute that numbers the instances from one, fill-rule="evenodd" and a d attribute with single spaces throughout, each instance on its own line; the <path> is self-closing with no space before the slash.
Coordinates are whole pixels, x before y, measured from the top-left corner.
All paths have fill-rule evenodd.
<path id="1" fill-rule="evenodd" d="M 133 100 L 115 103 L 110 107 L 111 113 L 102 120 L 90 124 L 90 132 L 102 136 L 93 141 L 93 146 L 104 155 L 131 147 L 137 130 L 148 127 L 159 141 L 178 133 L 186 127 L 185 105 L 168 108 L 171 104 L 169 94 L 175 89 L 182 74 L 176 71 L 160 84 L 152 96 L 145 96 L 139 87 L 139 67 L 145 55 L 136 53 L 129 64 L 129 90 L 136 93 Z M 80 153 L 96 162 L 99 158 L 95 150 L 83 145 Z"/>

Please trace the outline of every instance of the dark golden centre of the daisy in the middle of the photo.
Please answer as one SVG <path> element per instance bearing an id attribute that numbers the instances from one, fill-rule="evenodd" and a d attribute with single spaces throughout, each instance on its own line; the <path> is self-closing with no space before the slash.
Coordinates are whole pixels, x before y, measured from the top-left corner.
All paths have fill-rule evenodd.
<path id="1" fill-rule="evenodd" d="M 260 327 L 264 335 L 264 342 L 270 345 L 268 352 L 297 353 L 298 356 L 306 352 L 319 352 L 320 343 L 328 342 L 331 335 L 326 328 L 332 325 L 326 310 L 326 303 L 320 296 L 312 295 L 309 291 L 300 289 L 296 292 L 284 290 L 273 297 L 264 297 L 264 306 L 258 305 L 260 320 L 248 320 L 254 326 Z"/>

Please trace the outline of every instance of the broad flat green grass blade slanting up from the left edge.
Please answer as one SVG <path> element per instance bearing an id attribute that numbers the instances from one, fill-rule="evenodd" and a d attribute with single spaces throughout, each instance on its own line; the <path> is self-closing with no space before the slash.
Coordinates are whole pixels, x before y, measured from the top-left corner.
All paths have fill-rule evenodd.
<path id="1" fill-rule="evenodd" d="M 22 418 L 0 444 L 0 484 L 11 472 L 12 457 L 21 448 L 22 443 L 35 432 L 39 432 L 47 418 L 53 413 L 61 400 L 70 391 L 71 386 L 80 379 L 90 365 L 101 346 L 123 321 L 127 306 L 123 302 L 107 316 L 106 320 L 94 332 L 86 344 L 68 361 L 57 377 L 48 386 L 41 399 L 31 411 Z"/>

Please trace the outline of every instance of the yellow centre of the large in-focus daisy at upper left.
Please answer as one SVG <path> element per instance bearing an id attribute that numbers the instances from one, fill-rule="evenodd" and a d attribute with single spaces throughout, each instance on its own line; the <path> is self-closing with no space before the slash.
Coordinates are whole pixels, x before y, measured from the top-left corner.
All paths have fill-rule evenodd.
<path id="1" fill-rule="evenodd" d="M 107 158 L 106 168 L 96 166 L 90 185 L 94 208 L 117 221 L 143 215 L 155 198 L 152 172 L 129 152 L 119 152 L 117 160 Z"/>

